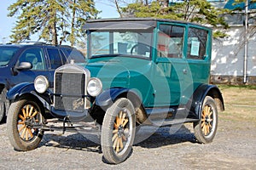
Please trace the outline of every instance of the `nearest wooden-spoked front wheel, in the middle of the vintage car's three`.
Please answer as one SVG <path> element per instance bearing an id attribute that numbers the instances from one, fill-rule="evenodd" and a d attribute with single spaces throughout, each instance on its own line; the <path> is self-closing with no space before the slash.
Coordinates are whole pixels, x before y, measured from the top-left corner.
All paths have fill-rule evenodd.
<path id="1" fill-rule="evenodd" d="M 102 123 L 102 153 L 105 161 L 118 164 L 130 155 L 136 129 L 135 110 L 129 99 L 116 100 Z"/>

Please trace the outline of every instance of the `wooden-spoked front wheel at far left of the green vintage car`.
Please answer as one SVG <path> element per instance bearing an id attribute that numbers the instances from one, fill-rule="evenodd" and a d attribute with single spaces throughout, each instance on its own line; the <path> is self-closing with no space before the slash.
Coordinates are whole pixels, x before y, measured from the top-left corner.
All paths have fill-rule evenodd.
<path id="1" fill-rule="evenodd" d="M 44 131 L 32 128 L 32 124 L 42 124 L 44 117 L 39 105 L 31 100 L 21 99 L 9 107 L 7 133 L 15 150 L 34 150 L 43 138 Z"/>

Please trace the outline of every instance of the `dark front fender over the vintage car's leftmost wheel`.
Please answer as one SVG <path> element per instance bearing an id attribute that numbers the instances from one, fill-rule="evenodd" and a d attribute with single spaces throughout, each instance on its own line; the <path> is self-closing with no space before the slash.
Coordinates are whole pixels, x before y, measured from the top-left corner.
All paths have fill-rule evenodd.
<path id="1" fill-rule="evenodd" d="M 13 102 L 26 94 L 31 95 L 35 99 L 38 99 L 38 101 L 40 101 L 42 105 L 44 105 L 44 107 L 50 111 L 51 99 L 48 95 L 49 92 L 46 91 L 44 94 L 38 94 L 34 88 L 34 83 L 31 82 L 22 82 L 13 88 L 10 88 L 6 94 L 6 99 L 9 99 L 9 101 Z"/>

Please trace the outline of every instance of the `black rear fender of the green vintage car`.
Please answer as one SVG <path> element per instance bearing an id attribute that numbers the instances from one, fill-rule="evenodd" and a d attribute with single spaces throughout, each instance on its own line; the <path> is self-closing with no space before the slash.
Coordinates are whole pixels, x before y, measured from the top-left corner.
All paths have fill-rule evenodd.
<path id="1" fill-rule="evenodd" d="M 196 88 L 192 98 L 187 104 L 190 118 L 200 119 L 202 104 L 206 96 L 211 96 L 215 100 L 218 111 L 224 111 L 224 99 L 218 87 L 212 84 L 201 84 Z"/>

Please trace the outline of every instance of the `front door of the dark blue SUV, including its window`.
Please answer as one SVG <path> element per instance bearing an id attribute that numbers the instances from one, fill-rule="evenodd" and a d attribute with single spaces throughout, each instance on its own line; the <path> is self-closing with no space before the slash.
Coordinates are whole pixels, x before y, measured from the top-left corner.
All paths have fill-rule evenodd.
<path id="1" fill-rule="evenodd" d="M 44 48 L 26 48 L 23 53 L 20 54 L 16 65 L 19 65 L 21 62 L 31 63 L 32 69 L 16 71 L 16 74 L 11 77 L 11 86 L 20 82 L 34 82 L 34 79 L 39 75 L 50 78 L 49 71 L 47 69 L 48 65 L 45 60 Z"/>

